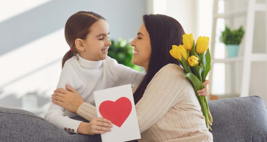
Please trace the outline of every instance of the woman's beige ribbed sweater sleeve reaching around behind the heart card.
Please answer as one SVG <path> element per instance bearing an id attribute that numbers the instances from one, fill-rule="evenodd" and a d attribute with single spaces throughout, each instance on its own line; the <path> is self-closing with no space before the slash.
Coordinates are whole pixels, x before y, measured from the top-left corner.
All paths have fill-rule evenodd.
<path id="1" fill-rule="evenodd" d="M 140 133 L 163 117 L 185 92 L 186 78 L 181 67 L 168 64 L 147 85 L 143 97 L 135 105 Z M 77 114 L 91 121 L 97 117 L 96 107 L 82 103 Z"/>

